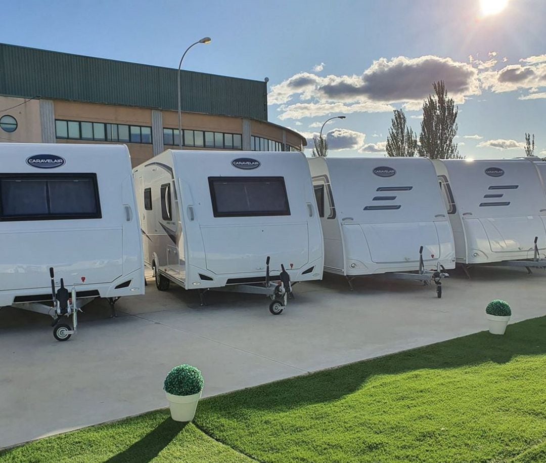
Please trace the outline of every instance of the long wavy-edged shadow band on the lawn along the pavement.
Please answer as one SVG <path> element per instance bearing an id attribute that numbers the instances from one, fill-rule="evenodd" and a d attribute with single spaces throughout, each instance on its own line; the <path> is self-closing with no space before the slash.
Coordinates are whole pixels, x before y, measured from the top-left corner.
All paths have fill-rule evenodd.
<path id="1" fill-rule="evenodd" d="M 418 349 L 365 360 L 307 376 L 211 397 L 199 405 L 199 415 L 221 412 L 237 417 L 241 409 L 286 411 L 337 400 L 360 389 L 373 376 L 424 369 L 471 367 L 485 362 L 504 364 L 514 356 L 546 354 L 546 317 L 509 325 L 504 336 L 487 331 Z"/>

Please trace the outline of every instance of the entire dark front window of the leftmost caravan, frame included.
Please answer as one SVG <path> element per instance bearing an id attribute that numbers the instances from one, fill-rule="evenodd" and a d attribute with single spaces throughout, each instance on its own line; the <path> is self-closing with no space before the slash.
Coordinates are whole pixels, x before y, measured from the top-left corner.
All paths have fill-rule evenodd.
<path id="1" fill-rule="evenodd" d="M 0 175 L 0 220 L 101 216 L 96 174 Z"/>

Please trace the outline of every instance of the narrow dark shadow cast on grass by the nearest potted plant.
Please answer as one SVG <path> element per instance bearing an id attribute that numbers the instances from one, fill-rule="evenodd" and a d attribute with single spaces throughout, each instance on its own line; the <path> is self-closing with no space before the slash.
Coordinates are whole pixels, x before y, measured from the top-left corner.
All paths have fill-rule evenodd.
<path id="1" fill-rule="evenodd" d="M 159 455 L 159 452 L 167 447 L 171 441 L 182 431 L 188 423 L 166 418 L 163 423 L 146 436 L 135 442 L 123 452 L 112 456 L 105 463 L 134 463 L 137 461 L 151 461 Z"/>

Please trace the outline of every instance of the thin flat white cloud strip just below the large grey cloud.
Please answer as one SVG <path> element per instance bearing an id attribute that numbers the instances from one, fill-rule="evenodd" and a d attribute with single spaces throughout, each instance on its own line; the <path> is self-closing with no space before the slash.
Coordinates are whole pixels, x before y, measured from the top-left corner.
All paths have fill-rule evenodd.
<path id="1" fill-rule="evenodd" d="M 358 103 L 346 105 L 343 103 L 295 103 L 282 105 L 278 108 L 282 112 L 278 119 L 301 119 L 314 118 L 330 114 L 352 114 L 352 113 L 385 113 L 391 112 L 394 108 L 384 103 Z"/>

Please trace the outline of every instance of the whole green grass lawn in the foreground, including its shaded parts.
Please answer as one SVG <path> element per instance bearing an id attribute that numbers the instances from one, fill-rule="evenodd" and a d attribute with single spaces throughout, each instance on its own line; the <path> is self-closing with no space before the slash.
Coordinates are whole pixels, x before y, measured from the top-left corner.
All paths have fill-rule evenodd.
<path id="1" fill-rule="evenodd" d="M 167 417 L 46 438 L 0 461 L 546 462 L 546 317 L 212 397 L 197 427 Z"/>

